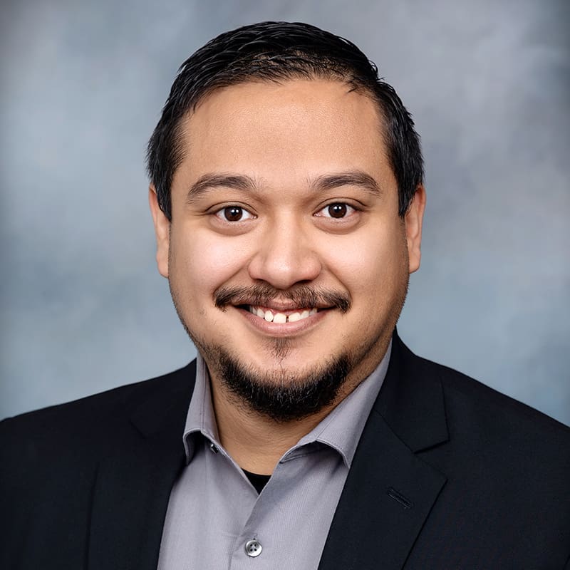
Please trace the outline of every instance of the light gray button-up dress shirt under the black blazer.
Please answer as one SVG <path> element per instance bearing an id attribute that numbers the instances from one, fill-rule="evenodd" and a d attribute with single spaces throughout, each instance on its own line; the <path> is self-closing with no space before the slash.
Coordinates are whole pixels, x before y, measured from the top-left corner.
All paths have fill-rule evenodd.
<path id="1" fill-rule="evenodd" d="M 382 386 L 378 368 L 291 447 L 258 494 L 219 442 L 209 376 L 198 357 L 159 570 L 315 570 L 364 424 Z"/>

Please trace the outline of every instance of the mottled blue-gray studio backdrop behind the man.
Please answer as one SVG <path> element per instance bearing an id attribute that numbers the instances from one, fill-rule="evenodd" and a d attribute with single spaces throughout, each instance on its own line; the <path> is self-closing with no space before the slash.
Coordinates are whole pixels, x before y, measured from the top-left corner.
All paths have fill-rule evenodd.
<path id="1" fill-rule="evenodd" d="M 356 41 L 423 136 L 405 341 L 570 423 L 569 6 L 2 3 L 0 417 L 194 356 L 155 269 L 145 143 L 192 51 L 285 19 Z"/>

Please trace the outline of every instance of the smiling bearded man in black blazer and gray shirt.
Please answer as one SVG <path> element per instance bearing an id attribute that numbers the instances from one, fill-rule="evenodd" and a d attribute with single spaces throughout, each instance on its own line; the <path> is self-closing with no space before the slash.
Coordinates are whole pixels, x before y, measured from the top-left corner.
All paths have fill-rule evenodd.
<path id="1" fill-rule="evenodd" d="M 423 162 L 356 46 L 306 24 L 215 38 L 148 168 L 199 357 L 3 423 L 2 567 L 570 567 L 570 430 L 395 333 Z"/>

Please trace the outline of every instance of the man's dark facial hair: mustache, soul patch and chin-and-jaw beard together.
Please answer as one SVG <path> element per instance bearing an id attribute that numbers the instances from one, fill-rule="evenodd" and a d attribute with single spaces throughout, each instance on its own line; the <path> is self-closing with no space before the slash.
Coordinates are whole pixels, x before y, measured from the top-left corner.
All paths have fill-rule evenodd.
<path id="1" fill-rule="evenodd" d="M 339 353 L 323 363 L 301 371 L 288 371 L 286 368 L 259 371 L 245 364 L 239 356 L 223 346 L 199 338 L 183 318 L 182 304 L 177 299 L 172 286 L 170 291 L 180 322 L 202 354 L 210 376 L 213 373 L 215 378 L 221 381 L 234 405 L 246 412 L 263 415 L 277 423 L 287 423 L 314 415 L 334 403 L 341 390 L 346 387 L 351 373 L 361 366 L 371 351 L 379 345 L 385 345 L 384 349 L 388 347 L 395 323 L 403 308 L 407 289 L 408 280 L 406 279 L 403 290 L 391 306 L 385 326 L 380 331 L 376 331 L 367 343 L 358 346 L 353 353 L 349 351 Z M 321 299 L 326 299 L 327 304 L 336 306 L 336 309 L 343 313 L 346 313 L 351 306 L 349 296 L 334 291 L 327 293 L 301 286 L 286 294 L 283 291 L 280 293 L 281 297 L 295 299 L 298 306 L 315 306 Z M 214 293 L 214 304 L 225 311 L 226 306 L 230 304 L 234 306 L 246 303 L 264 305 L 266 299 L 273 299 L 274 296 L 274 289 L 270 286 L 220 288 Z M 282 362 L 291 348 L 288 338 L 271 338 L 266 342 L 268 343 L 266 348 L 270 348 L 277 362 Z M 366 375 L 370 374 L 373 368 L 378 366 L 380 360 L 381 355 L 370 370 L 363 371 L 359 380 L 363 380 Z"/>

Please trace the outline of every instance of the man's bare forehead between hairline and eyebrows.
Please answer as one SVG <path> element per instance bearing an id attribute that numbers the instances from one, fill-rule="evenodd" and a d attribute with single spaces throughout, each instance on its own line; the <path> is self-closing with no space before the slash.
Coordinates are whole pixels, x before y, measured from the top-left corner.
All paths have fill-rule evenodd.
<path id="1" fill-rule="evenodd" d="M 223 171 L 294 180 L 343 170 L 382 178 L 391 176 L 382 133 L 372 98 L 341 81 L 242 83 L 207 95 L 185 119 L 175 179 Z"/>

